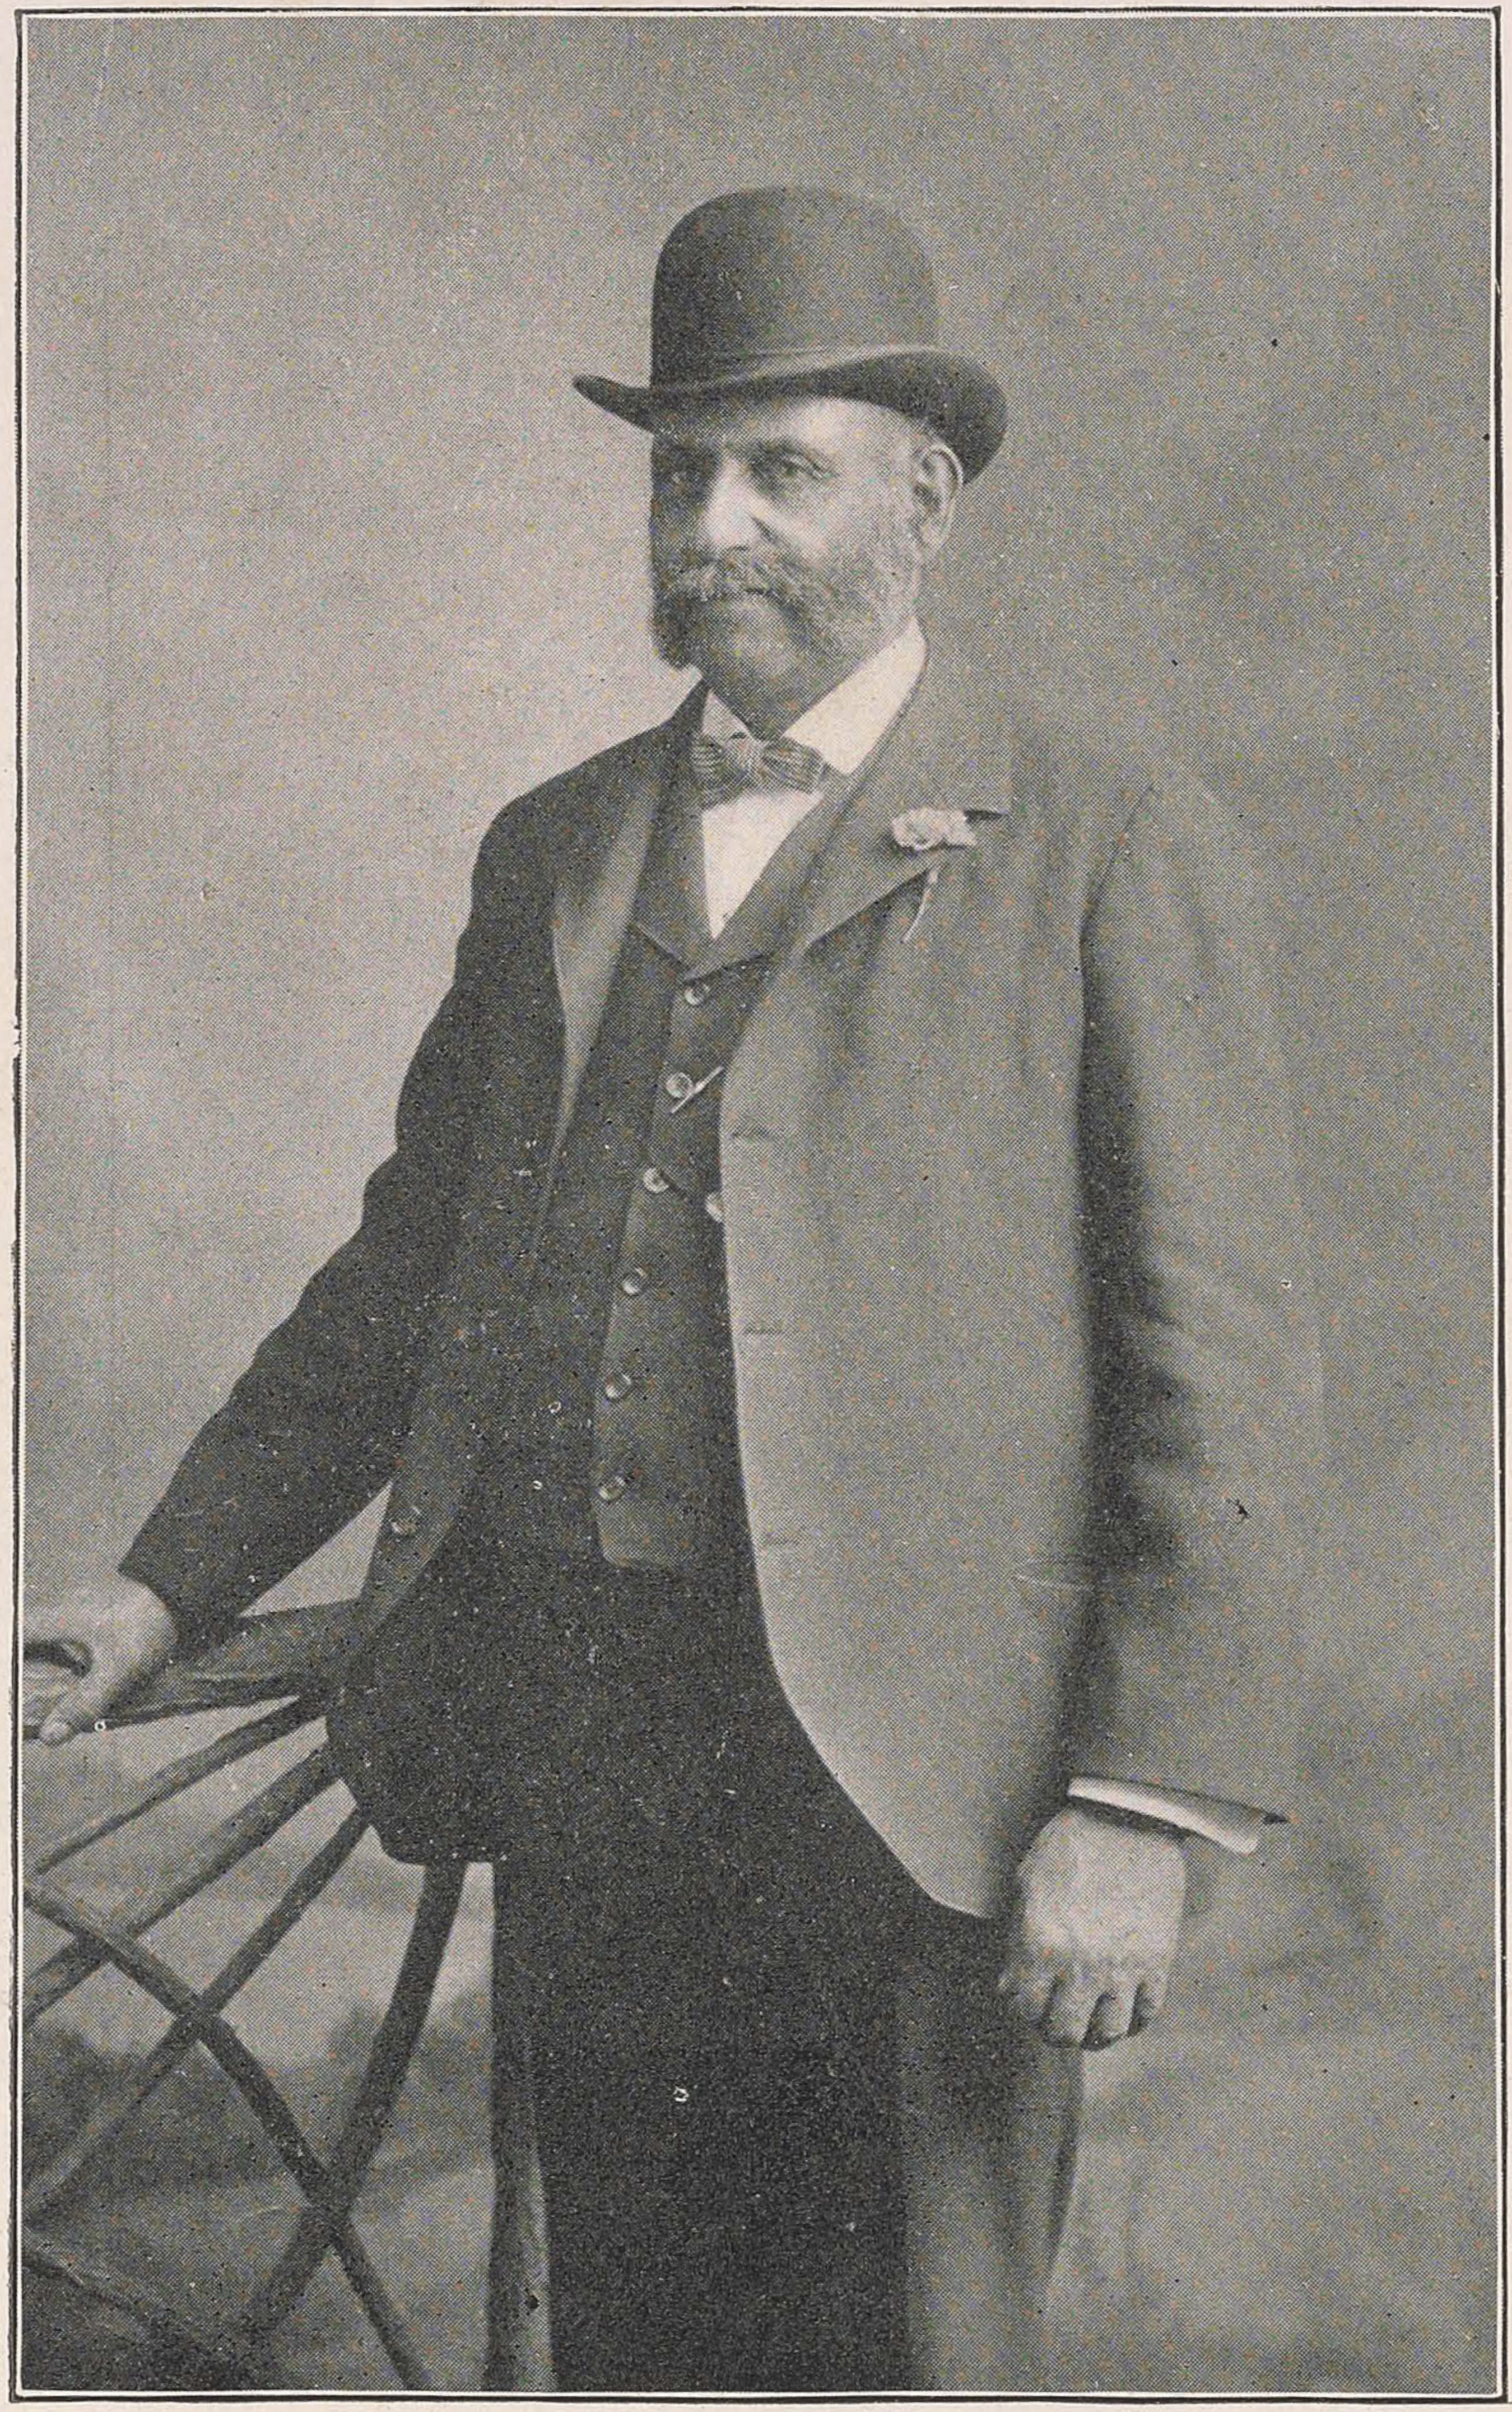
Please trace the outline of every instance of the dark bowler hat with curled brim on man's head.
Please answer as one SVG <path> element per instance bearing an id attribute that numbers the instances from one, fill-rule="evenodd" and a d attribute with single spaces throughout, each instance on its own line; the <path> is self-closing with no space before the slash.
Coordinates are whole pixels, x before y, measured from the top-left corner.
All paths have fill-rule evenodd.
<path id="1" fill-rule="evenodd" d="M 844 193 L 721 193 L 668 234 L 651 292 L 651 384 L 574 376 L 634 427 L 736 393 L 839 393 L 926 420 L 967 478 L 1008 405 L 986 369 L 940 345 L 919 239 Z"/>

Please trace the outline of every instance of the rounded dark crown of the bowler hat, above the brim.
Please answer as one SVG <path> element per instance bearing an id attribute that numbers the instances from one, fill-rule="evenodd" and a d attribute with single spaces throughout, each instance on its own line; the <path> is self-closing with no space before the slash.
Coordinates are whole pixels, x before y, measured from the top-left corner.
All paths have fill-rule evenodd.
<path id="1" fill-rule="evenodd" d="M 673 227 L 656 263 L 654 386 L 938 340 L 921 244 L 844 193 L 721 193 Z"/>

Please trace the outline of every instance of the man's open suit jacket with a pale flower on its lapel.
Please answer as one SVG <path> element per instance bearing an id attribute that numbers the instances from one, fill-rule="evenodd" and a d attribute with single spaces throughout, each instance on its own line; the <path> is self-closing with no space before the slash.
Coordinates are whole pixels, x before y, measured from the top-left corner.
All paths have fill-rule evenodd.
<path id="1" fill-rule="evenodd" d="M 362 1664 L 487 1469 L 699 702 L 487 832 L 362 1225 L 125 1561 L 191 1635 L 393 1481 L 342 1645 Z M 919 806 L 974 844 L 904 851 Z M 1317 1358 L 1232 818 L 931 661 L 726 1071 L 721 1163 L 772 1657 L 919 1884 L 998 1908 L 1071 1773 L 1271 1804 Z"/>

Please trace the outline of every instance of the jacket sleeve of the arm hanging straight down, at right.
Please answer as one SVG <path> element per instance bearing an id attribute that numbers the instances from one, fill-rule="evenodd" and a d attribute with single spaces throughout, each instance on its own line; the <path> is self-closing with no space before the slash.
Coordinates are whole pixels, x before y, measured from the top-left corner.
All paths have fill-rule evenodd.
<path id="1" fill-rule="evenodd" d="M 1150 794 L 1083 941 L 1100 1587 L 1073 1775 L 1278 1807 L 1319 1363 L 1268 946 L 1240 832 Z"/>

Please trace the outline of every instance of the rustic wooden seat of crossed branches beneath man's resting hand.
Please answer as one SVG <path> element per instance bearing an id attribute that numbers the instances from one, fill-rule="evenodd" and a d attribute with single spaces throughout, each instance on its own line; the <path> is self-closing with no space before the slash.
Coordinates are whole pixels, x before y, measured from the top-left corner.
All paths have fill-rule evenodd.
<path id="1" fill-rule="evenodd" d="M 326 1741 L 311 1737 L 311 1749 L 304 1756 L 282 1766 L 272 1780 L 260 1782 L 219 1823 L 200 1831 L 166 1872 L 147 1879 L 135 1874 L 104 1905 L 101 1881 L 94 1874 L 104 1864 L 99 1848 L 111 1836 L 150 1819 L 222 1768 L 253 1761 L 256 1754 L 285 1737 L 316 1725 L 323 1700 L 313 1688 L 311 1667 L 323 1638 L 345 1614 L 345 1604 L 330 1604 L 253 1616 L 219 1650 L 195 1662 L 166 1667 L 150 1688 L 111 1715 L 113 1727 L 203 1710 L 263 1708 L 265 1713 L 157 1768 L 123 1799 L 39 1850 L 24 1877 L 27 1908 L 63 1937 L 60 1946 L 27 1975 L 24 2024 L 34 2026 L 84 1978 L 109 1966 L 157 2002 L 169 2014 L 169 2026 L 150 2050 L 113 2074 L 104 2098 L 43 2156 L 39 2168 L 27 2173 L 22 2260 L 36 2277 L 135 2323 L 150 2352 L 174 2371 L 176 2385 L 246 2388 L 256 2383 L 265 2369 L 268 2340 L 294 2311 L 328 2253 L 345 2270 L 364 2320 L 400 2385 L 415 2390 L 432 2385 L 427 2366 L 354 2231 L 352 2212 L 432 2007 L 465 1867 L 453 1862 L 424 1869 L 400 1971 L 367 2067 L 335 2142 L 323 2152 L 309 2139 L 280 2086 L 229 2024 L 227 2009 L 352 1857 L 367 1831 L 364 1816 L 347 1809 L 335 1831 L 304 1855 L 272 1908 L 258 1918 L 253 1932 L 229 1951 L 210 1978 L 191 1983 L 147 1937 L 340 1782 Z M 41 1688 L 46 1691 L 46 1679 Z M 265 1703 L 280 1705 L 268 1708 Z M 29 1710 L 27 1734 L 36 1732 L 41 1715 L 46 1715 L 46 1698 L 39 1698 Z M 75 1881 L 80 1877 L 82 1881 Z M 205 2335 L 205 2328 L 186 2311 L 147 2287 L 130 2267 L 121 2267 L 113 2253 L 106 2262 L 92 2250 L 77 2250 L 68 2241 L 65 2224 L 68 2205 L 77 2202 L 80 2195 L 87 2197 L 92 2176 L 101 2173 L 128 2123 L 195 2048 L 210 2055 L 224 2082 L 241 2096 L 301 2202 L 282 2253 L 256 2282 L 251 2301 L 229 2335 Z M 528 2106 L 521 2103 L 521 2137 L 526 2135 Z M 506 2176 L 499 2183 L 509 2183 Z M 521 2340 L 526 2311 L 533 2303 L 523 2279 L 526 2185 L 528 2168 L 521 2164 L 516 2221 L 521 2284 L 514 2289 L 521 2303 Z M 494 2347 L 497 2364 L 499 2349 Z M 494 2383 L 499 2381 L 494 2378 Z"/>

